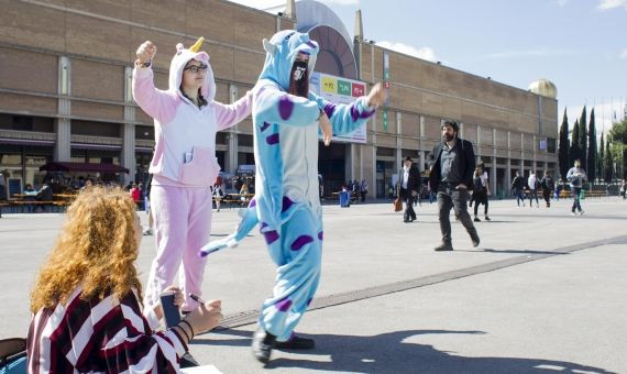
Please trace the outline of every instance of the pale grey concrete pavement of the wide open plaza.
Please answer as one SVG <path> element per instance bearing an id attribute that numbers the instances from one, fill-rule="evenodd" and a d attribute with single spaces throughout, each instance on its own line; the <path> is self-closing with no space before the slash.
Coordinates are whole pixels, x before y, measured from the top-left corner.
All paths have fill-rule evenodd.
<path id="1" fill-rule="evenodd" d="M 297 329 L 317 349 L 274 351 L 265 369 L 250 337 L 274 264 L 254 231 L 209 257 L 204 297 L 222 299 L 227 329 L 200 336 L 191 352 L 223 373 L 627 372 L 627 202 L 585 199 L 582 217 L 570 216 L 570 204 L 491 201 L 493 221 L 475 223 L 481 245 L 453 223 L 449 253 L 432 251 L 435 204 L 409 224 L 392 204 L 324 207 L 322 280 Z M 215 212 L 212 234 L 237 221 L 235 210 Z M 25 336 L 30 287 L 62 222 L 0 219 L 0 338 Z M 138 261 L 143 283 L 153 240 L 144 238 Z"/>

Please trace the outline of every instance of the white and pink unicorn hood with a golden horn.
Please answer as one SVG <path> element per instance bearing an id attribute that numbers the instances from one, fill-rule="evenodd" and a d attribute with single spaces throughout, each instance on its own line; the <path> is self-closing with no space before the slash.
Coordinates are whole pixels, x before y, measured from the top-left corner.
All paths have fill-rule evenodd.
<path id="1" fill-rule="evenodd" d="M 200 88 L 200 94 L 205 97 L 207 102 L 213 101 L 216 97 L 216 81 L 213 80 L 213 70 L 211 70 L 211 65 L 209 64 L 209 55 L 207 52 L 198 52 L 205 38 L 200 36 L 200 38 L 194 43 L 193 46 L 189 48 L 185 48 L 183 43 L 178 43 L 176 45 L 176 54 L 172 58 L 172 63 L 169 64 L 169 89 L 175 91 L 183 98 L 187 100 L 183 92 L 180 91 L 180 82 L 183 80 L 183 69 L 185 65 L 190 59 L 196 59 L 205 65 L 207 65 L 207 73 L 205 74 L 205 82 Z"/>

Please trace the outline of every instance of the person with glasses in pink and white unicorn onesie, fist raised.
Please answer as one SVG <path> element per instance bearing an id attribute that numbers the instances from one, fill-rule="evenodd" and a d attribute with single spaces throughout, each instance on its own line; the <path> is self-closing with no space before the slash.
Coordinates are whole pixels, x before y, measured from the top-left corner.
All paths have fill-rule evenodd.
<path id="1" fill-rule="evenodd" d="M 151 63 L 156 46 L 143 43 L 136 52 L 133 98 L 154 119 L 155 152 L 151 202 L 155 220 L 157 254 L 154 258 L 144 307 L 158 305 L 161 293 L 174 283 L 180 267 L 179 286 L 188 312 L 198 307 L 189 294 L 200 296 L 206 261 L 198 250 L 209 240 L 211 191 L 220 165 L 216 158 L 216 132 L 242 121 L 251 113 L 249 91 L 232 105 L 213 100 L 216 82 L 209 55 L 200 52 L 202 37 L 191 47 L 176 45 L 169 66 L 169 88 L 156 89 Z"/>

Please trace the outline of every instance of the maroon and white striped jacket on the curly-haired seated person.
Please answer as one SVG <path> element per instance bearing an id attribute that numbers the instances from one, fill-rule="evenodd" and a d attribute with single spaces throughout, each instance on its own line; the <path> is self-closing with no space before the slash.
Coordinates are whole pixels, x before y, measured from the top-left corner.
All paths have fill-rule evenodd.
<path id="1" fill-rule="evenodd" d="M 42 309 L 28 337 L 29 373 L 176 373 L 187 351 L 176 330 L 153 332 L 154 314 L 144 317 L 135 294 L 121 300 L 80 299 Z M 150 323 L 148 323 L 150 319 Z"/>

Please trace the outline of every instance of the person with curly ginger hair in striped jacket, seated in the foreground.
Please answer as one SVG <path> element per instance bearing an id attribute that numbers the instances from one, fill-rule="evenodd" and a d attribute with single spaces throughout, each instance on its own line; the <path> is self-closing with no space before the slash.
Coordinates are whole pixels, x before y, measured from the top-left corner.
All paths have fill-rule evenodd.
<path id="1" fill-rule="evenodd" d="M 163 310 L 140 307 L 141 238 L 127 191 L 91 187 L 77 196 L 31 294 L 29 373 L 175 373 L 189 340 L 218 324 L 221 302 L 212 300 L 154 332 Z"/>

